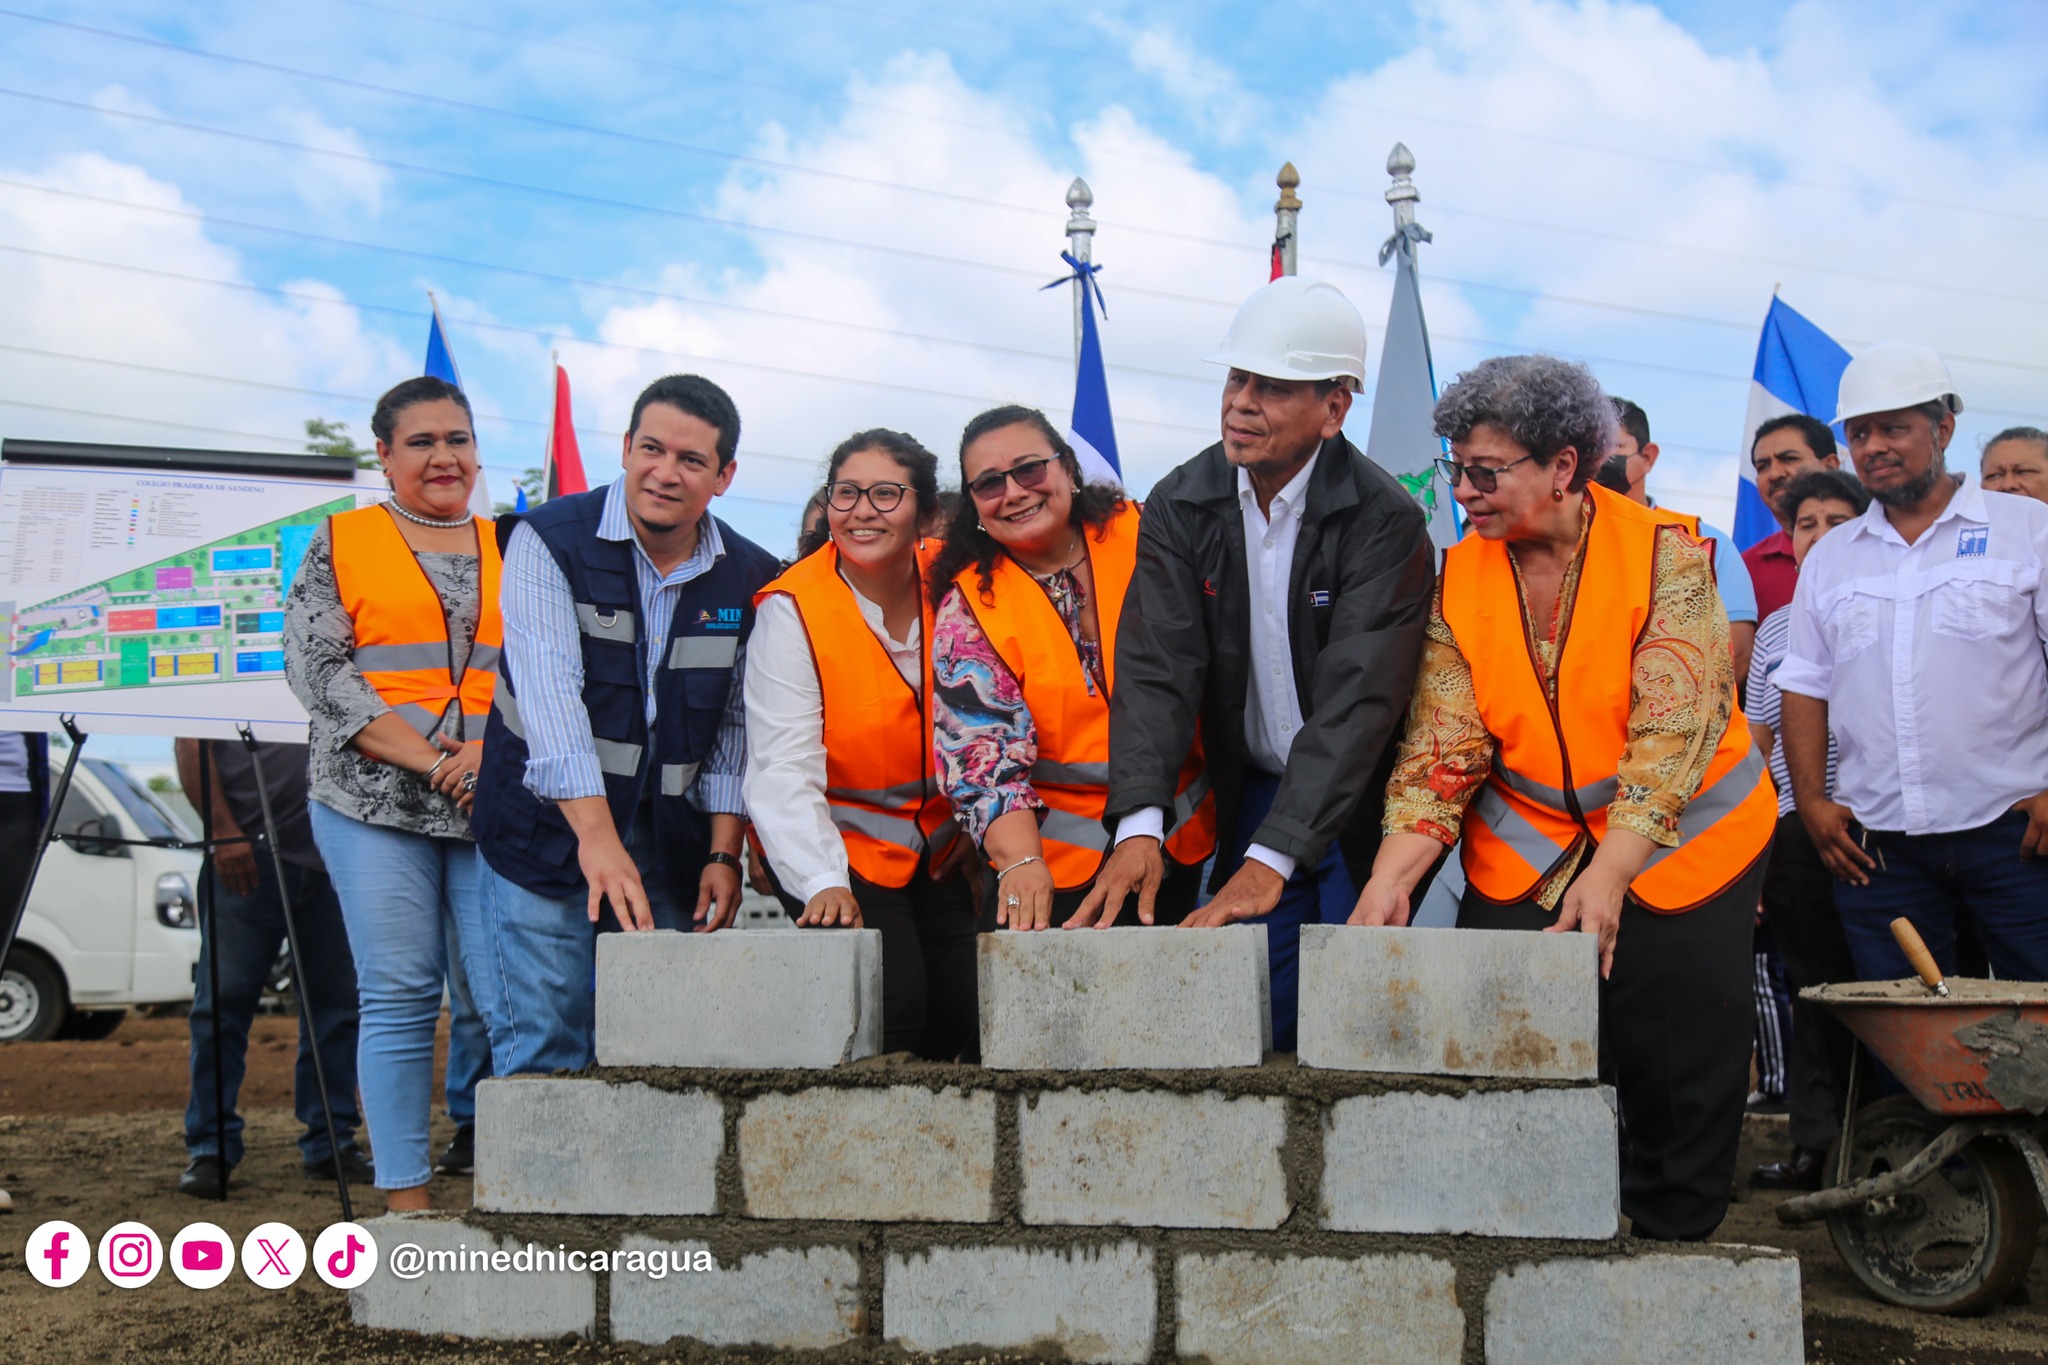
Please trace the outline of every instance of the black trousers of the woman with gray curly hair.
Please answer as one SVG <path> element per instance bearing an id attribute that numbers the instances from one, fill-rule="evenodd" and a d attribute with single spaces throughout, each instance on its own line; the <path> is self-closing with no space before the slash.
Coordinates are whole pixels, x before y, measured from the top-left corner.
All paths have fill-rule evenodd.
<path id="1" fill-rule="evenodd" d="M 1628 900 L 1614 972 L 1599 986 L 1599 1076 L 1622 1109 L 1622 1212 L 1636 1236 L 1712 1236 L 1735 1193 L 1735 1148 L 1755 1036 L 1751 976 L 1759 857 L 1724 892 L 1679 915 Z M 1534 900 L 1466 890 L 1460 929 L 1544 929 Z"/>

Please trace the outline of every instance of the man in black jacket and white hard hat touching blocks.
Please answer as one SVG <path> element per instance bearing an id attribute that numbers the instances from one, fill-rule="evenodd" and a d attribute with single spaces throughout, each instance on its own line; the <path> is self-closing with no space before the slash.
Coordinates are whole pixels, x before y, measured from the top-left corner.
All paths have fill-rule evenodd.
<path id="1" fill-rule="evenodd" d="M 1130 892 L 1151 923 L 1200 722 L 1217 894 L 1186 923 L 1268 925 L 1274 1048 L 1292 1052 L 1300 925 L 1343 923 L 1372 868 L 1436 557 L 1415 499 L 1343 438 L 1366 329 L 1335 287 L 1274 280 L 1210 360 L 1229 366 L 1223 442 L 1145 499 L 1110 700 L 1116 849 L 1067 927 L 1114 923 Z"/>

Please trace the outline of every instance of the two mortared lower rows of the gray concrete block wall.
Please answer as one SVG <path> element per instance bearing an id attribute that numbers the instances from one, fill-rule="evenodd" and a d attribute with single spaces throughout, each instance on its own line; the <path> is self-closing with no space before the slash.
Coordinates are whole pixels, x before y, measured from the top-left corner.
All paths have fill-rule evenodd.
<path id="1" fill-rule="evenodd" d="M 606 1261 L 410 1281 L 379 1269 L 354 1291 L 356 1322 L 799 1359 L 850 1347 L 1217 1363 L 1800 1359 L 1796 1263 L 1616 1234 L 1614 1124 L 1595 1087 L 1284 1060 L 1004 1072 L 870 1058 L 489 1081 L 479 1113 L 479 1209 L 373 1224 L 385 1265 L 408 1240 Z M 543 1160 L 539 1130 L 561 1124 L 602 1136 L 569 1142 L 555 1128 Z M 618 1209 L 594 1197 L 635 1189 L 623 1166 L 662 1150 L 655 1134 L 674 1136 L 662 1199 Z M 569 1160 L 584 1171 L 567 1175 Z M 709 1203 L 666 1193 L 707 1185 Z M 602 1212 L 565 1212 L 578 1201 Z"/>

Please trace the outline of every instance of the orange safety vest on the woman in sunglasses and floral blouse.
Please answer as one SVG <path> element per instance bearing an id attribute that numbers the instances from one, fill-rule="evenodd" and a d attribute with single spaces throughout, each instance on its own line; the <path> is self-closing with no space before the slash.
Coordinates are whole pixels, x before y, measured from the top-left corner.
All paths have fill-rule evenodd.
<path id="1" fill-rule="evenodd" d="M 1102 671 L 1116 690 L 1116 620 L 1139 563 L 1139 508 L 1126 503 L 1108 526 L 1083 532 L 1096 569 L 1096 624 L 1102 630 Z M 1087 886 L 1110 851 L 1102 814 L 1110 802 L 1110 698 L 1098 694 L 1059 608 L 1044 587 L 1008 555 L 995 557 L 989 593 L 981 593 L 973 567 L 958 579 L 989 645 L 1024 690 L 1038 729 L 1038 761 L 1030 780 L 1044 800 L 1038 839 L 1053 870 L 1053 886 Z M 1200 866 L 1217 849 L 1217 800 L 1208 790 L 1202 739 L 1196 735 L 1180 765 L 1180 784 L 1167 821 L 1165 851 L 1184 868 Z"/>

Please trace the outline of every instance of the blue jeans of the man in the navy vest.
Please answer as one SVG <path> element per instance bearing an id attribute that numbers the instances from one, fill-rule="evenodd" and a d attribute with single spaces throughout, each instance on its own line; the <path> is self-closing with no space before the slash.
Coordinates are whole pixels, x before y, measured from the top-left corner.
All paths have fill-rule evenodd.
<path id="1" fill-rule="evenodd" d="M 655 929 L 690 929 L 696 907 L 678 905 L 655 866 L 653 808 L 641 804 L 625 837 L 641 872 Z M 539 896 L 477 853 L 483 954 L 473 980 L 492 1029 L 492 1074 L 582 1070 L 596 1062 L 598 933 L 616 933 L 610 905 L 590 923 L 590 896 Z"/>

